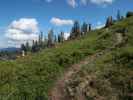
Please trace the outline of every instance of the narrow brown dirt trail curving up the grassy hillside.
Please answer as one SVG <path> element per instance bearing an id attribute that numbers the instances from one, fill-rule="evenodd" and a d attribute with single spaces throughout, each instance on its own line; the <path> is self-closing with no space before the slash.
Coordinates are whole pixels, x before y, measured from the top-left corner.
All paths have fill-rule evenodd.
<path id="1" fill-rule="evenodd" d="M 72 65 L 65 73 L 60 77 L 55 86 L 49 93 L 49 100 L 70 100 L 69 97 L 66 96 L 65 86 L 67 81 L 71 79 L 71 76 L 76 74 L 80 69 L 92 61 L 94 61 L 97 57 L 101 56 L 104 52 L 96 53 L 92 56 L 87 57 L 86 59 L 80 61 L 78 64 Z M 79 93 L 80 94 L 80 93 Z M 82 94 L 79 95 L 78 100 L 85 100 Z"/>

